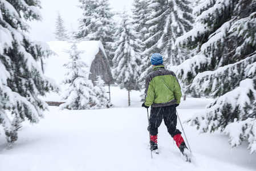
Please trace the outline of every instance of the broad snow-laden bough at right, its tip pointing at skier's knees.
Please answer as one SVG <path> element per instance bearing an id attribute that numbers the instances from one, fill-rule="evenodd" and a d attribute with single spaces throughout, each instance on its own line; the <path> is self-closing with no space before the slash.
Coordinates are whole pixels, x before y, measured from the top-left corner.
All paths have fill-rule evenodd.
<path id="1" fill-rule="evenodd" d="M 235 118 L 243 121 L 244 118 L 255 115 L 255 99 L 253 79 L 242 80 L 239 87 L 214 99 L 204 111 L 195 113 L 188 123 L 197 125 L 200 132 L 224 131 Z"/>

